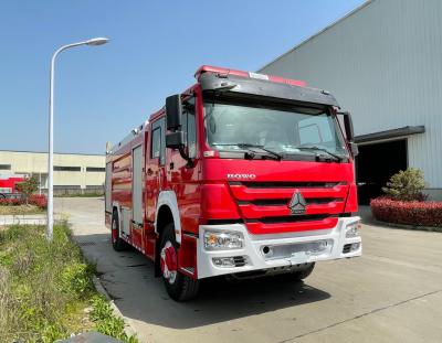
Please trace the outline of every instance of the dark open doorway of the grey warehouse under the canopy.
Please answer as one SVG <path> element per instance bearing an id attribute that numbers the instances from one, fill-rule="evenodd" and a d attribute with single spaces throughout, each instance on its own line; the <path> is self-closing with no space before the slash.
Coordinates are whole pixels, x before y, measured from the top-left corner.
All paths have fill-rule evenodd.
<path id="1" fill-rule="evenodd" d="M 359 204 L 368 205 L 370 199 L 382 192 L 391 175 L 408 167 L 407 139 L 358 146 L 356 180 Z"/>

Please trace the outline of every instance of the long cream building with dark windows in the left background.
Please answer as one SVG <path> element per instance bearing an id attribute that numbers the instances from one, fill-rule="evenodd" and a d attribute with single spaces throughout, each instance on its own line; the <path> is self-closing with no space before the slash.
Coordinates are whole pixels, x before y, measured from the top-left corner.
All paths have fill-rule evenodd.
<path id="1" fill-rule="evenodd" d="M 103 193 L 104 154 L 54 153 L 54 194 Z M 36 175 L 48 189 L 48 152 L 0 151 L 0 174 Z"/>

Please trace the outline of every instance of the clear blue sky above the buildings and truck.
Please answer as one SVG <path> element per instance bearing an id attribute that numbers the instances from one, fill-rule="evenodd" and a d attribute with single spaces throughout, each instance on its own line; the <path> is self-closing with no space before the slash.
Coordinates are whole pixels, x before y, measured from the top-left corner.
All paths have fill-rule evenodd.
<path id="1" fill-rule="evenodd" d="M 364 0 L 0 0 L 0 150 L 104 153 L 203 64 L 256 71 Z"/>

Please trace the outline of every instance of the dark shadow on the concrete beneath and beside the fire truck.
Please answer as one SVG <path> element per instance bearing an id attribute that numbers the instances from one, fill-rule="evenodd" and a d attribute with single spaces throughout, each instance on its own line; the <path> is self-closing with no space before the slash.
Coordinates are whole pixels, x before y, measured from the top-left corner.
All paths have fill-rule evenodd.
<path id="1" fill-rule="evenodd" d="M 86 258 L 96 262 L 103 286 L 122 313 L 130 319 L 170 329 L 191 329 L 322 301 L 329 293 L 277 277 L 230 283 L 224 278 L 203 280 L 197 299 L 176 302 L 154 264 L 135 249 L 114 251 L 108 235 L 74 237 Z M 284 320 L 296 320 L 287 314 Z"/>

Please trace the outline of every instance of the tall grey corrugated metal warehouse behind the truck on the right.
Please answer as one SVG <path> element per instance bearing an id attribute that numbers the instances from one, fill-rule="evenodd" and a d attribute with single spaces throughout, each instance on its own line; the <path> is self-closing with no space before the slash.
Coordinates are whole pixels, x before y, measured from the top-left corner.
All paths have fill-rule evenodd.
<path id="1" fill-rule="evenodd" d="M 442 199 L 442 1 L 372 0 L 260 69 L 329 90 L 352 115 L 362 203 L 408 167 Z"/>

